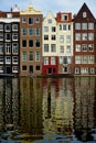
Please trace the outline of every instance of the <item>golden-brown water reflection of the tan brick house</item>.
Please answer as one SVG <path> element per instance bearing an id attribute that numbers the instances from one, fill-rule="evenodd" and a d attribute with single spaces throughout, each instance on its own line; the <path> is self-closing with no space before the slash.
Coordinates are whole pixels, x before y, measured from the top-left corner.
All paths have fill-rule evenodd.
<path id="1" fill-rule="evenodd" d="M 20 79 L 21 132 L 42 134 L 42 79 Z"/>

